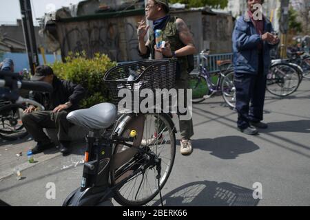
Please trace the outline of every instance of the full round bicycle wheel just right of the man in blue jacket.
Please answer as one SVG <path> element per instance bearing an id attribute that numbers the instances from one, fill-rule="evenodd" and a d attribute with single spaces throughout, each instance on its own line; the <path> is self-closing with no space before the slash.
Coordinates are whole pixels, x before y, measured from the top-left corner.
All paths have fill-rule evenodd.
<path id="1" fill-rule="evenodd" d="M 275 96 L 293 94 L 300 85 L 300 77 L 294 67 L 287 63 L 272 65 L 267 74 L 267 91 Z"/>

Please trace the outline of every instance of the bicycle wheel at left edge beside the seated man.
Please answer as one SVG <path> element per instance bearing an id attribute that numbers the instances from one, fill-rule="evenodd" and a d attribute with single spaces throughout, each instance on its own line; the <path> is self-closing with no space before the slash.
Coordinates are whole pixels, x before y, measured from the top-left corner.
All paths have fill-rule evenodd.
<path id="1" fill-rule="evenodd" d="M 28 135 L 21 122 L 21 115 L 25 109 L 22 104 L 6 104 L 0 108 L 0 138 L 14 141 Z"/>

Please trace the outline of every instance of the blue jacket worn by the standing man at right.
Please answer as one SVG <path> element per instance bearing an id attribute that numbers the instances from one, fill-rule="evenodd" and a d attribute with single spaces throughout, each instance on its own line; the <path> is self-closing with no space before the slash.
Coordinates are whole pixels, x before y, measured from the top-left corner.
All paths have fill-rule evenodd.
<path id="1" fill-rule="evenodd" d="M 271 22 L 264 21 L 264 32 L 273 32 Z M 258 43 L 262 43 L 264 74 L 267 75 L 271 65 L 270 50 L 276 45 L 270 45 L 262 41 L 260 34 L 249 17 L 248 12 L 236 21 L 233 36 L 233 61 L 236 74 L 257 74 L 258 73 Z"/>

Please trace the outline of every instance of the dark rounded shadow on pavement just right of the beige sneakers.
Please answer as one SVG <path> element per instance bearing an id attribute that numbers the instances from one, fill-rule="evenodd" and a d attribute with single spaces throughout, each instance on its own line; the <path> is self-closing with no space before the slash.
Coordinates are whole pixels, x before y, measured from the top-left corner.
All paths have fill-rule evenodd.
<path id="1" fill-rule="evenodd" d="M 236 159 L 243 153 L 257 151 L 259 146 L 241 136 L 216 137 L 214 139 L 193 140 L 195 149 L 211 151 L 211 155 L 221 159 Z"/>

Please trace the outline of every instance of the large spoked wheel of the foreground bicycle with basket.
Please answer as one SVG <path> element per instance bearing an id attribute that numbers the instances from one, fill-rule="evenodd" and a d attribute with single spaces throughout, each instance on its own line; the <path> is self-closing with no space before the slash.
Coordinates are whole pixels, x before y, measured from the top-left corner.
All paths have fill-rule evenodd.
<path id="1" fill-rule="evenodd" d="M 141 144 L 147 152 L 153 152 L 161 158 L 161 178 L 159 188 L 165 185 L 174 164 L 176 155 L 176 136 L 172 124 L 167 119 L 166 114 L 147 113 L 145 114 L 143 140 L 146 144 Z M 135 120 L 133 118 L 132 120 Z M 128 125 L 128 124 L 127 124 Z M 126 126 L 121 136 L 129 137 L 132 128 Z M 156 132 L 158 131 L 158 132 Z M 156 135 L 155 135 L 156 134 Z M 130 148 L 118 144 L 114 148 L 114 157 L 118 153 L 129 151 Z M 122 179 L 132 175 L 136 170 L 142 170 L 122 186 L 114 190 L 114 199 L 122 206 L 143 206 L 159 193 L 158 179 L 156 179 L 156 166 L 145 167 L 149 161 L 149 156 L 145 153 L 137 152 L 134 157 L 123 163 L 118 168 L 111 170 L 110 179 L 112 187 Z M 144 168 L 143 168 L 144 167 Z"/>

